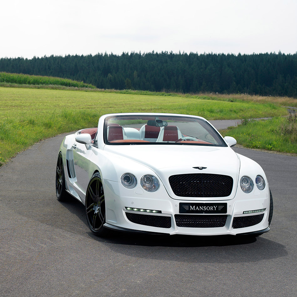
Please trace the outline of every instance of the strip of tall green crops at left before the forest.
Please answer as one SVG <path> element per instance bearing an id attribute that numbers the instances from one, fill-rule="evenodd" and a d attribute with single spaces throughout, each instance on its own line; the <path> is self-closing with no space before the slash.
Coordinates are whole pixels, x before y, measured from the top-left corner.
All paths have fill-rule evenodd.
<path id="1" fill-rule="evenodd" d="M 29 75 L 18 73 L 0 72 L 0 82 L 28 85 L 61 85 L 77 88 L 96 88 L 92 84 L 85 84 L 81 81 L 59 78 L 53 76 Z"/>

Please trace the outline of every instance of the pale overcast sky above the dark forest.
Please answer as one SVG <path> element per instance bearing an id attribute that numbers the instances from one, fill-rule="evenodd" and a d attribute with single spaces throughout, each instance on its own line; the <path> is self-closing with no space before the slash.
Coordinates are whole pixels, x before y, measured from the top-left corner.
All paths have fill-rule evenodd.
<path id="1" fill-rule="evenodd" d="M 0 58 L 297 52 L 296 0 L 1 0 Z"/>

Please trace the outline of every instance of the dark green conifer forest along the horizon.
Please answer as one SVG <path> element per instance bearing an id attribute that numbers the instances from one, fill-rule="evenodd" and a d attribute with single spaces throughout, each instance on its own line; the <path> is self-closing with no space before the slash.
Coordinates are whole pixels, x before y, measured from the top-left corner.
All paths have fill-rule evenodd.
<path id="1" fill-rule="evenodd" d="M 58 76 L 100 89 L 297 97 L 297 53 L 123 53 L 1 58 L 0 71 Z"/>

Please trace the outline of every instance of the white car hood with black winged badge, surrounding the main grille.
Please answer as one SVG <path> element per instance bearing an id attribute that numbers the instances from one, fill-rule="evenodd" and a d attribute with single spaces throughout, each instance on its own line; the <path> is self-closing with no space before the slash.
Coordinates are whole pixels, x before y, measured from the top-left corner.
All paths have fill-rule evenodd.
<path id="1" fill-rule="evenodd" d="M 189 145 L 123 145 L 105 146 L 104 151 L 126 157 L 151 168 L 163 182 L 167 192 L 174 199 L 197 200 L 191 197 L 177 197 L 169 185 L 169 177 L 176 174 L 211 173 L 229 175 L 233 178 L 233 190 L 223 200 L 235 196 L 239 176 L 240 160 L 230 147 Z M 199 170 L 193 167 L 206 167 Z M 127 169 L 128 170 L 128 169 Z M 133 168 L 129 168 L 133 173 Z M 145 174 L 145 172 L 143 172 Z M 199 200 L 222 200 L 199 198 Z"/>

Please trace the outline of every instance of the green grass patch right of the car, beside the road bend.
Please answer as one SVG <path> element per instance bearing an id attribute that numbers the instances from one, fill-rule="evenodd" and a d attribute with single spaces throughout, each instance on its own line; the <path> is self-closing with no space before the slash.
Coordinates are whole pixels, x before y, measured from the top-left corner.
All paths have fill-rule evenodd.
<path id="1" fill-rule="evenodd" d="M 297 115 L 274 117 L 265 121 L 242 121 L 241 125 L 221 131 L 248 148 L 297 153 Z"/>

